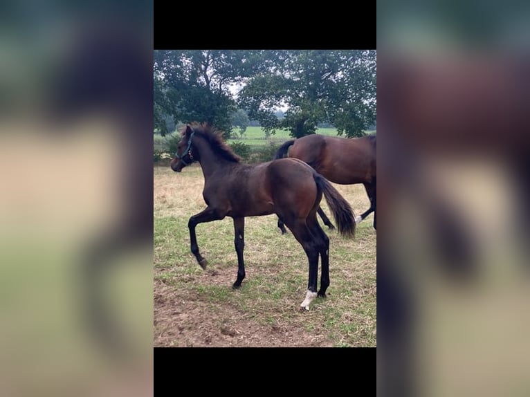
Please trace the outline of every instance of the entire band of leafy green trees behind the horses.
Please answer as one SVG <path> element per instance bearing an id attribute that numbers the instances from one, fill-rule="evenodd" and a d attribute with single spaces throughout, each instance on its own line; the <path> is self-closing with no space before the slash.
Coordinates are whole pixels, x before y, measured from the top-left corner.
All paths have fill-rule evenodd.
<path id="1" fill-rule="evenodd" d="M 155 51 L 154 126 L 162 134 L 171 116 L 210 122 L 229 135 L 241 109 L 267 133 L 281 128 L 300 137 L 325 122 L 362 136 L 376 120 L 376 51 Z M 283 118 L 279 109 L 286 109 Z"/>

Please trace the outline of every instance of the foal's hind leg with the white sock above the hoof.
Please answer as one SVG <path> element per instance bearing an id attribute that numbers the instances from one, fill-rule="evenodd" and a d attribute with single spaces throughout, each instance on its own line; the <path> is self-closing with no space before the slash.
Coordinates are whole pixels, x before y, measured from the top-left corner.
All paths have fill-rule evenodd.
<path id="1" fill-rule="evenodd" d="M 289 226 L 293 236 L 302 245 L 304 251 L 309 259 L 309 281 L 307 283 L 307 293 L 304 302 L 300 304 L 300 310 L 309 310 L 309 304 L 316 298 L 316 287 L 318 279 L 318 241 L 311 234 L 311 231 L 307 227 L 306 222 L 303 219 L 296 219 L 295 221 L 288 221 L 286 219 L 286 225 Z"/>

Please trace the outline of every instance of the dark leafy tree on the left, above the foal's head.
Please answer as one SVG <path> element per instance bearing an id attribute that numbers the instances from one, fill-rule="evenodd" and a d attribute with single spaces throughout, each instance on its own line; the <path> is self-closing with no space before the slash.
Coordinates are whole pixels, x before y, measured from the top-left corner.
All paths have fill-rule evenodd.
<path id="1" fill-rule="evenodd" d="M 259 70 L 261 51 L 154 51 L 154 125 L 167 133 L 164 116 L 175 122 L 209 122 L 230 136 L 237 109 L 230 84 Z"/>

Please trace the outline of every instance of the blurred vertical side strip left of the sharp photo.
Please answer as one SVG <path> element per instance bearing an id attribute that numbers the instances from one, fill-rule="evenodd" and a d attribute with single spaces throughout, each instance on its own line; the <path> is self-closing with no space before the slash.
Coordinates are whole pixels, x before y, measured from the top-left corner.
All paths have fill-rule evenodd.
<path id="1" fill-rule="evenodd" d="M 0 6 L 3 396 L 153 394 L 152 42 L 152 1 Z"/>

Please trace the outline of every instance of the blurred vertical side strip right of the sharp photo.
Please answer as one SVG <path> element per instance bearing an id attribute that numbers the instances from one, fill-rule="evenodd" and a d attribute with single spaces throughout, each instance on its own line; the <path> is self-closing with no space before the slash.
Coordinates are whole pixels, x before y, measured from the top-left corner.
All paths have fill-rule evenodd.
<path id="1" fill-rule="evenodd" d="M 377 6 L 378 394 L 526 396 L 529 6 Z"/>

